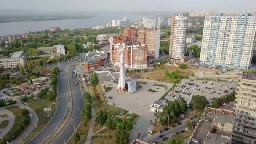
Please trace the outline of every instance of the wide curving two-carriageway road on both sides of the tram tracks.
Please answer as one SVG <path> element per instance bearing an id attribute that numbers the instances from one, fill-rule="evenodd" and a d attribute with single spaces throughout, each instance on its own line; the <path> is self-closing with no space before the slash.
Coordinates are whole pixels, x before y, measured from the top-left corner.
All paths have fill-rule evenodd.
<path id="1" fill-rule="evenodd" d="M 61 62 L 60 63 L 60 69 L 63 70 L 63 72 L 60 72 L 59 74 L 59 85 L 58 85 L 58 105 L 56 109 L 55 115 L 52 117 L 52 119 L 49 121 L 48 125 L 45 126 L 45 128 L 32 139 L 31 141 L 28 142 L 28 144 L 40 144 L 51 132 L 56 128 L 56 126 L 59 124 L 61 119 L 64 117 L 64 113 L 67 109 L 67 96 L 68 96 L 68 77 L 67 75 L 70 74 L 70 72 L 74 71 L 75 67 L 72 66 L 72 62 Z M 65 71 L 68 71 L 68 73 L 65 73 Z M 67 142 L 67 140 L 72 136 L 74 133 L 74 126 L 77 128 L 77 126 L 80 123 L 80 118 L 81 118 L 81 112 L 79 109 L 83 108 L 83 97 L 82 93 L 80 91 L 80 85 L 74 85 L 73 84 L 73 79 L 70 79 L 70 85 L 72 89 L 72 98 L 74 99 L 74 113 L 72 115 L 72 119 L 70 120 L 69 123 L 67 124 L 67 127 L 65 130 L 58 136 L 56 137 L 55 141 L 53 144 L 63 144 L 64 139 Z"/>

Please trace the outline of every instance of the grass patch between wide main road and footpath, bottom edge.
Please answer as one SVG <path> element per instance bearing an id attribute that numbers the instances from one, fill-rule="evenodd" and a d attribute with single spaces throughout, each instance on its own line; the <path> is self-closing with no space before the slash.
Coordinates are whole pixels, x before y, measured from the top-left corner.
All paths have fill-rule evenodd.
<path id="1" fill-rule="evenodd" d="M 88 122 L 87 126 L 84 126 L 82 123 L 77 128 L 77 133 L 80 135 L 80 141 L 77 144 L 84 144 L 87 138 L 87 134 L 90 128 L 90 121 Z M 75 144 L 73 137 L 67 142 L 67 144 Z"/>

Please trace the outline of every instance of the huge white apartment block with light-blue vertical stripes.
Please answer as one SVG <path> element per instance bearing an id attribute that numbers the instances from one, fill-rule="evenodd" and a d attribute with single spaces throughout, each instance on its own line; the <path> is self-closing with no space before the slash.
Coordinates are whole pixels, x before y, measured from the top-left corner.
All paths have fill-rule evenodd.
<path id="1" fill-rule="evenodd" d="M 249 69 L 255 49 L 256 16 L 205 16 L 200 64 Z"/>

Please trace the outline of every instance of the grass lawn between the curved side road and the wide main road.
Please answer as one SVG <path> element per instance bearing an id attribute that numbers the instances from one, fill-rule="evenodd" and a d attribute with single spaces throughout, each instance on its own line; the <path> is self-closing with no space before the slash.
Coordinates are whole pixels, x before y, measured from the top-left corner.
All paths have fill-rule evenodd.
<path id="1" fill-rule="evenodd" d="M 38 124 L 37 124 L 37 129 L 38 132 L 40 132 L 45 125 L 48 123 L 48 121 L 50 120 L 50 117 L 47 117 L 47 112 L 43 111 L 43 108 L 45 107 L 51 107 L 51 116 L 53 116 L 54 112 L 55 112 L 55 106 L 54 103 L 52 101 L 39 101 L 39 102 L 35 102 L 33 104 L 29 104 L 29 107 L 31 107 L 32 109 L 34 109 L 34 111 L 37 113 L 37 117 L 38 117 Z M 35 122 L 31 122 L 31 123 L 35 123 Z M 36 128 L 27 136 L 28 140 L 32 139 L 35 135 L 37 134 L 37 130 Z M 23 139 L 23 141 L 21 141 L 21 144 L 25 144 L 27 142 L 26 139 Z"/>

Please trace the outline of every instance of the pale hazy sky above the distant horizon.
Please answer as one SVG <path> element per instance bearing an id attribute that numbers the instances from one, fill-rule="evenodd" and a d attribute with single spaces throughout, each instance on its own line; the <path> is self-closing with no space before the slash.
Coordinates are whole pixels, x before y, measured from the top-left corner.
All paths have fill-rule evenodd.
<path id="1" fill-rule="evenodd" d="M 0 11 L 256 11 L 256 0 L 0 0 Z"/>

